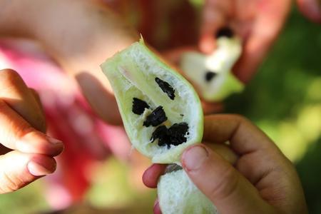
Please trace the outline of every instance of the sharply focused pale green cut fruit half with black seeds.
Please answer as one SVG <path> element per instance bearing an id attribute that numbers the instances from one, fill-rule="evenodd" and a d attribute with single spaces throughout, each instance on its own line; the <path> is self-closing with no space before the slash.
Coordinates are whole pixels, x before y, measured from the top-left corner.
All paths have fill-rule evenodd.
<path id="1" fill-rule="evenodd" d="M 153 163 L 178 163 L 200 143 L 203 111 L 193 86 L 165 65 L 143 40 L 101 65 L 133 146 Z"/>

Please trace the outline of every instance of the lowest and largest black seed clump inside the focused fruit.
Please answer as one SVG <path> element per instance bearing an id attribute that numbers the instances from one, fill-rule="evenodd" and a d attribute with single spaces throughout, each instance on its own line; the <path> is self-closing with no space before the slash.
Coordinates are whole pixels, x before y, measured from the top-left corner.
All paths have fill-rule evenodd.
<path id="1" fill-rule="evenodd" d="M 152 133 L 151 141 L 154 142 L 158 139 L 158 146 L 170 148 L 170 145 L 178 146 L 185 143 L 187 141 L 186 133 L 188 133 L 188 123 L 174 123 L 170 128 L 158 126 Z"/>

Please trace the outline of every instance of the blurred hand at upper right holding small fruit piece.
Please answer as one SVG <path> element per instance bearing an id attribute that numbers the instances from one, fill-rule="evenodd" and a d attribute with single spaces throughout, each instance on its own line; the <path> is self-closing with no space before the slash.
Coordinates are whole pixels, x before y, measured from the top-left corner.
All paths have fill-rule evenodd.
<path id="1" fill-rule="evenodd" d="M 280 33 L 290 0 L 206 0 L 200 30 L 200 50 L 210 53 L 215 48 L 215 34 L 230 26 L 243 38 L 243 56 L 235 74 L 248 82 Z"/>

